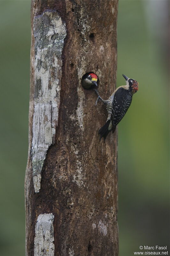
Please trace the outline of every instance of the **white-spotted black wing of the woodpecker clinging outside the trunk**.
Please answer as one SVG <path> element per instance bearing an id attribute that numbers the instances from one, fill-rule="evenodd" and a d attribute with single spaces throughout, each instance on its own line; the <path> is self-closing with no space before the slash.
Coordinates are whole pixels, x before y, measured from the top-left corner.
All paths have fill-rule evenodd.
<path id="1" fill-rule="evenodd" d="M 117 125 L 126 114 L 130 104 L 132 102 L 132 94 L 129 90 L 119 88 L 115 94 L 112 103 L 112 125 Z"/>

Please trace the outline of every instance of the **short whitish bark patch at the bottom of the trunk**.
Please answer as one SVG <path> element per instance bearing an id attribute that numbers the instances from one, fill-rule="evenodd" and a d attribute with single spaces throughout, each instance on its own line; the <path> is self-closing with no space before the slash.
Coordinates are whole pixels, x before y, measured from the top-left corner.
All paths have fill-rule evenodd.
<path id="1" fill-rule="evenodd" d="M 54 215 L 44 213 L 38 216 L 35 226 L 34 256 L 54 256 Z"/>

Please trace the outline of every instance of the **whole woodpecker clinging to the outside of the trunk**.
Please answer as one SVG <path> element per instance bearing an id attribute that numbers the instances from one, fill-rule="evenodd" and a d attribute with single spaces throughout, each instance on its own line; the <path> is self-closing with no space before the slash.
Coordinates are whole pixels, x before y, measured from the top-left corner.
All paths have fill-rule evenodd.
<path id="1" fill-rule="evenodd" d="M 132 102 L 132 96 L 138 90 L 138 83 L 136 80 L 128 78 L 125 75 L 122 76 L 126 80 L 126 85 L 118 87 L 108 100 L 103 100 L 98 91 L 94 89 L 98 95 L 96 104 L 100 99 L 106 105 L 108 112 L 107 121 L 98 132 L 100 134 L 100 140 L 103 137 L 105 141 L 109 132 L 115 132 L 116 125 L 119 124 L 123 116 L 126 114 Z"/>

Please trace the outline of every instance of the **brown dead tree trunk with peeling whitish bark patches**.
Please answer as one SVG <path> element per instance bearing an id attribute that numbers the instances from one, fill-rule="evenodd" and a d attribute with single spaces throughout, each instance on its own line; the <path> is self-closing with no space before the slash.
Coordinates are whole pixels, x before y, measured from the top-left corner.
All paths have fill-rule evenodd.
<path id="1" fill-rule="evenodd" d="M 117 132 L 81 77 L 93 71 L 104 99 L 115 89 L 114 1 L 32 1 L 27 256 L 118 255 Z"/>

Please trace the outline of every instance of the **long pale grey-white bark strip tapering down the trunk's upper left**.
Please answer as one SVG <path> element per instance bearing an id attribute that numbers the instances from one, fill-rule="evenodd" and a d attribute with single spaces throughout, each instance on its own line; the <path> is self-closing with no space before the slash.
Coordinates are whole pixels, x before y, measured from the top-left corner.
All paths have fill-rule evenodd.
<path id="1" fill-rule="evenodd" d="M 58 12 L 43 12 L 33 20 L 35 39 L 34 114 L 33 114 L 33 183 L 41 188 L 41 170 L 47 150 L 55 143 L 62 77 L 62 51 L 66 26 Z"/>

